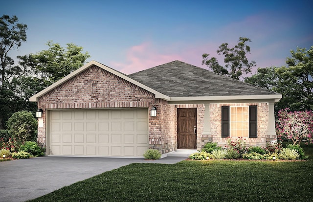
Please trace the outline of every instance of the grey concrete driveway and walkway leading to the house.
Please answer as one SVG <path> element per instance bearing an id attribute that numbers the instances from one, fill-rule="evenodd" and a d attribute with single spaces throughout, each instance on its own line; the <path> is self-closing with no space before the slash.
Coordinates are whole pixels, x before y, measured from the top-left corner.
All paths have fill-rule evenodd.
<path id="1" fill-rule="evenodd" d="M 131 163 L 174 164 L 186 157 L 159 160 L 100 157 L 36 157 L 0 162 L 0 202 L 35 199 L 63 186 Z"/>

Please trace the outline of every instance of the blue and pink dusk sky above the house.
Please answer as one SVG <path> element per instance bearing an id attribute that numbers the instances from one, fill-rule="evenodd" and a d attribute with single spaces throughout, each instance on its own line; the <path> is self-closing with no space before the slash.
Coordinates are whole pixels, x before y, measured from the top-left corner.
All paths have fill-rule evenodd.
<path id="1" fill-rule="evenodd" d="M 251 40 L 257 67 L 281 67 L 297 47 L 313 45 L 312 0 L 0 0 L 0 16 L 27 24 L 27 41 L 10 56 L 82 46 L 95 60 L 129 74 L 175 60 L 202 66 L 219 45 Z"/>

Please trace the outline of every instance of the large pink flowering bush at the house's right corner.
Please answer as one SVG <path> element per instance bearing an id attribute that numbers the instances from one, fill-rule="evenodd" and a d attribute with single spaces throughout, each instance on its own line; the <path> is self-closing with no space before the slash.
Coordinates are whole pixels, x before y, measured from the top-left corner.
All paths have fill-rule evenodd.
<path id="1" fill-rule="evenodd" d="M 276 122 L 278 138 L 290 139 L 293 144 L 305 141 L 313 143 L 313 112 L 288 112 L 288 110 L 278 112 Z"/>

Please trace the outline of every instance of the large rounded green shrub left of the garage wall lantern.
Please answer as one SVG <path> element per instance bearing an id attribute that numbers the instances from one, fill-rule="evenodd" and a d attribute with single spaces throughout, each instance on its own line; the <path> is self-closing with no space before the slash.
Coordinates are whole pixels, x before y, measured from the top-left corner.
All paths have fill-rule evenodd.
<path id="1" fill-rule="evenodd" d="M 6 122 L 8 132 L 19 142 L 36 141 L 37 121 L 31 112 L 15 112 Z"/>

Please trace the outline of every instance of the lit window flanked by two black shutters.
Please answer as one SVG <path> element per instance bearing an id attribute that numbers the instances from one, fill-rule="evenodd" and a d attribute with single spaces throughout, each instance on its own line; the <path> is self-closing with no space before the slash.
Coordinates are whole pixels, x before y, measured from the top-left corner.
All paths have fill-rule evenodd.
<path id="1" fill-rule="evenodd" d="M 258 137 L 257 106 L 222 106 L 222 137 Z"/>

